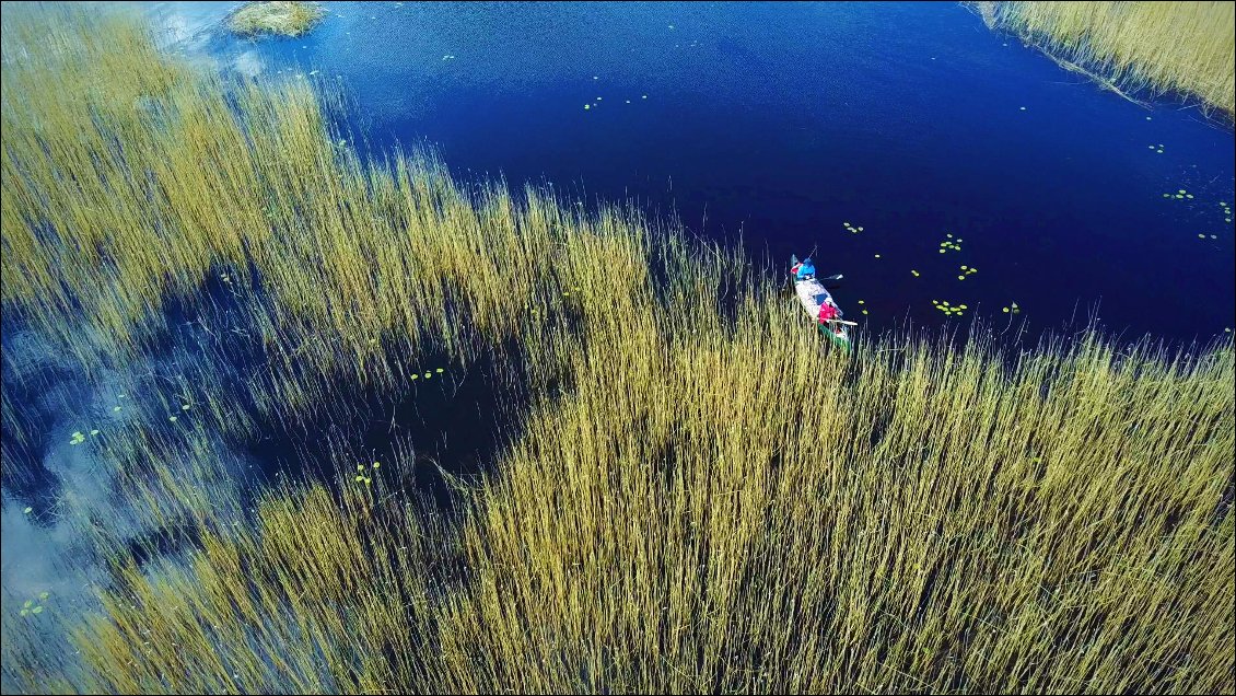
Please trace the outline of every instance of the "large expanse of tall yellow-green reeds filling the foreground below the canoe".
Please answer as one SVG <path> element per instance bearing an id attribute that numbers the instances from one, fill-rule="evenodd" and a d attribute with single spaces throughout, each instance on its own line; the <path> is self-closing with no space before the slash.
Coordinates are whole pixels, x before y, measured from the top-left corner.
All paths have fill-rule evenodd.
<path id="1" fill-rule="evenodd" d="M 363 162 L 308 85 L 195 72 L 77 10 L 6 15 L 2 47 L 4 312 L 83 391 L 126 375 L 115 405 L 63 397 L 62 446 L 193 540 L 140 562 L 57 501 L 105 577 L 80 609 L 5 590 L 14 689 L 1236 689 L 1230 337 L 822 354 L 742 250 L 426 155 Z M 125 371 L 169 298 L 215 340 L 171 378 Z M 243 336 L 262 360 L 236 384 Z M 414 451 L 358 451 L 339 396 L 426 388 L 430 354 L 496 354 L 503 402 L 531 401 L 492 470 L 447 477 L 450 509 L 409 492 Z M 12 394 L 22 483 L 42 434 Z M 250 499 L 220 443 L 271 420 L 339 425 L 305 433 L 337 478 Z"/>

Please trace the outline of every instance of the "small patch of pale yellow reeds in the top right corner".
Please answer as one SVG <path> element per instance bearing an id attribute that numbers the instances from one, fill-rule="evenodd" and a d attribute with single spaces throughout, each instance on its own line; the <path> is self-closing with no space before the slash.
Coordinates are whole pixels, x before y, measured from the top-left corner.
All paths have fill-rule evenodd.
<path id="1" fill-rule="evenodd" d="M 1121 90 L 1179 91 L 1236 109 L 1236 12 L 1216 2 L 974 2 L 1011 30 Z"/>

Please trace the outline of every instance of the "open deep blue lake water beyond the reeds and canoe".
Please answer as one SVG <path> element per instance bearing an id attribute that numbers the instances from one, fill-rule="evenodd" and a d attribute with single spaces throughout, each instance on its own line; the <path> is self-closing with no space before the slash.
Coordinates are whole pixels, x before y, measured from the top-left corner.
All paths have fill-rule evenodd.
<path id="1" fill-rule="evenodd" d="M 1230 130 L 1121 99 L 957 4 L 331 2 L 305 37 L 258 41 L 222 32 L 234 6 L 148 11 L 173 49 L 341 87 L 376 147 L 635 198 L 756 256 L 816 248 L 875 329 L 1234 324 Z"/>

